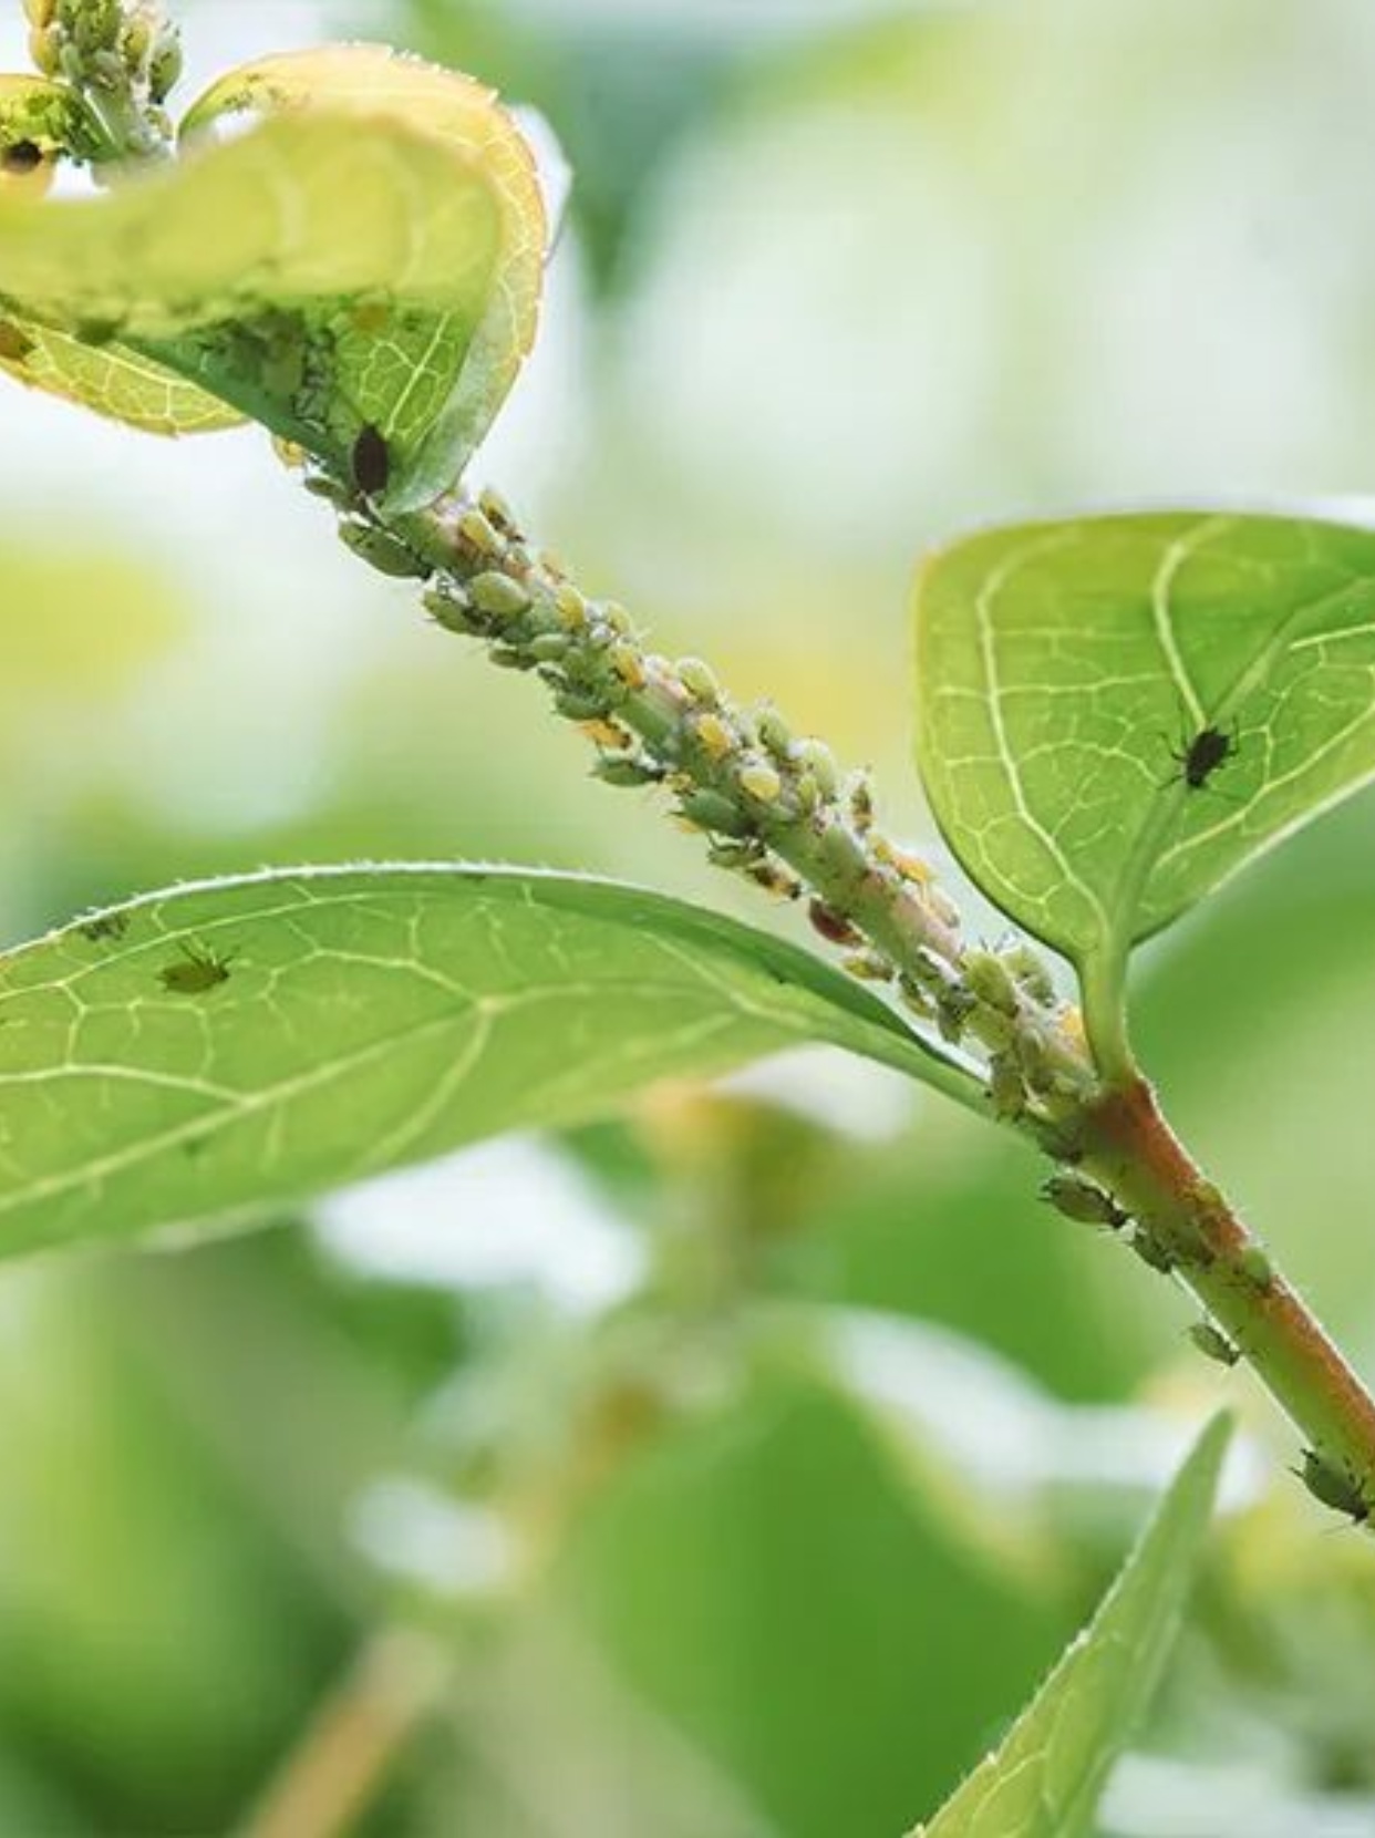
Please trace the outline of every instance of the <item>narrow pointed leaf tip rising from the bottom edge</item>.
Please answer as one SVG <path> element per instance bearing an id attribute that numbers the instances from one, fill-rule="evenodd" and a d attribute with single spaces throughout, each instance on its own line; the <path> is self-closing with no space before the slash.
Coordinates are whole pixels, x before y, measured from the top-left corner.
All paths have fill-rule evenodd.
<path id="1" fill-rule="evenodd" d="M 1077 1838 L 1175 1645 L 1232 1434 L 1215 1417 L 1097 1614 L 998 1750 L 912 1838 Z"/>

